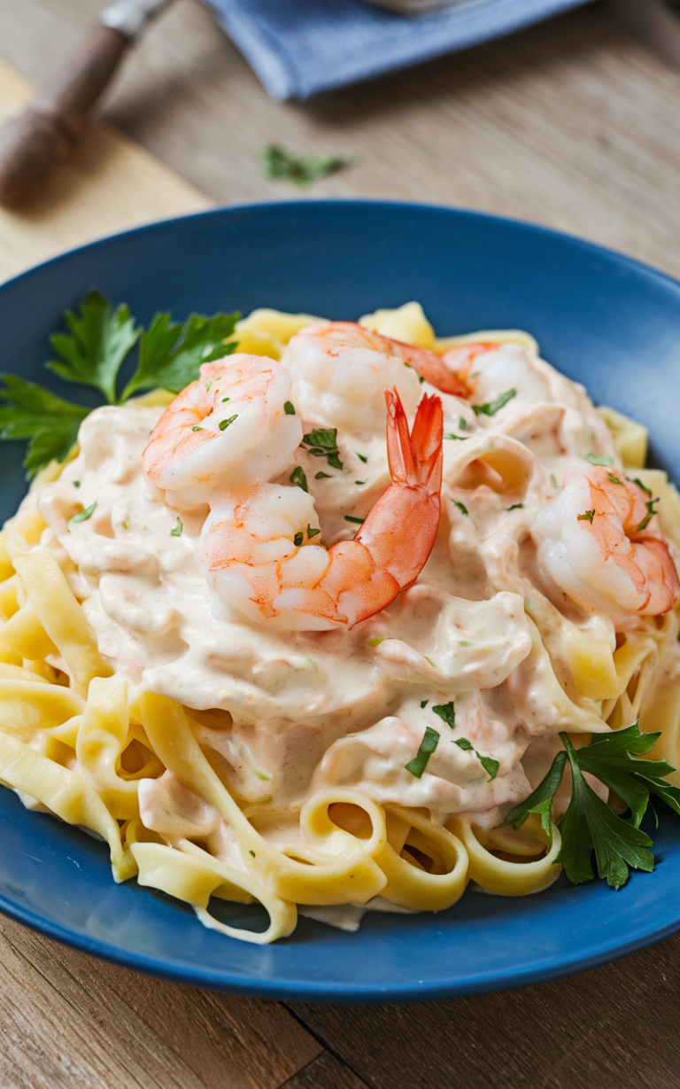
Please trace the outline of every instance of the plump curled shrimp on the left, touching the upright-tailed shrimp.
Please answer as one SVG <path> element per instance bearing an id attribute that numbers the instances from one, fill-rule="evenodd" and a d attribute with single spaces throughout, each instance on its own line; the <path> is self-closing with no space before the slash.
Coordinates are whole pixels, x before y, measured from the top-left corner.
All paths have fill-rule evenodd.
<path id="1" fill-rule="evenodd" d="M 191 510 L 225 489 L 279 476 L 302 438 L 289 396 L 290 377 L 273 359 L 237 354 L 205 363 L 153 428 L 141 457 L 147 478 L 171 506 Z"/>

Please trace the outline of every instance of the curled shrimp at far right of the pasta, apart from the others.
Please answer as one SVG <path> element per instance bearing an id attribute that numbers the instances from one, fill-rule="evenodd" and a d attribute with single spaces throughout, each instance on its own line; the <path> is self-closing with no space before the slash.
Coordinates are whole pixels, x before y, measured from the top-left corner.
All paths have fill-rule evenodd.
<path id="1" fill-rule="evenodd" d="M 557 585 L 615 622 L 657 616 L 680 590 L 654 501 L 619 469 L 573 469 L 539 515 L 539 556 Z"/>

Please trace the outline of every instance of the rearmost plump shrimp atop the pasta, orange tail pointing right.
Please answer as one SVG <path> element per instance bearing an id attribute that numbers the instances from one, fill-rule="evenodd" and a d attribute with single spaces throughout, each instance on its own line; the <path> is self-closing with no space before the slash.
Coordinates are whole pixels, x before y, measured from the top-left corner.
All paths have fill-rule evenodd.
<path id="1" fill-rule="evenodd" d="M 385 389 L 396 388 L 406 412 L 415 412 L 419 375 L 444 393 L 466 395 L 465 384 L 436 352 L 353 321 L 309 326 L 292 338 L 281 362 L 290 371 L 305 418 L 355 433 L 382 429 Z"/>

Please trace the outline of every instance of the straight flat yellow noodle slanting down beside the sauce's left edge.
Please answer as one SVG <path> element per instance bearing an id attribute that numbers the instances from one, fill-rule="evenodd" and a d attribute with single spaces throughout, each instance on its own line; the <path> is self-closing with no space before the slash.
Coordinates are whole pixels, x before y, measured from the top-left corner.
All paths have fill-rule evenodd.
<path id="1" fill-rule="evenodd" d="M 16 559 L 14 566 L 38 620 L 76 681 L 88 685 L 95 676 L 110 676 L 111 666 L 99 653 L 95 633 L 52 553 L 36 549 Z"/>

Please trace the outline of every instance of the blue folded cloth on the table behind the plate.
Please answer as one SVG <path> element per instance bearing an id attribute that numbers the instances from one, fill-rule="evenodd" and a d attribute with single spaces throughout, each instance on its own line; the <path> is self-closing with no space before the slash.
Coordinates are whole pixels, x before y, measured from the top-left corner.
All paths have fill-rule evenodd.
<path id="1" fill-rule="evenodd" d="M 588 0 L 462 0 L 399 15 L 363 0 L 209 0 L 272 98 L 309 98 L 496 38 Z"/>

